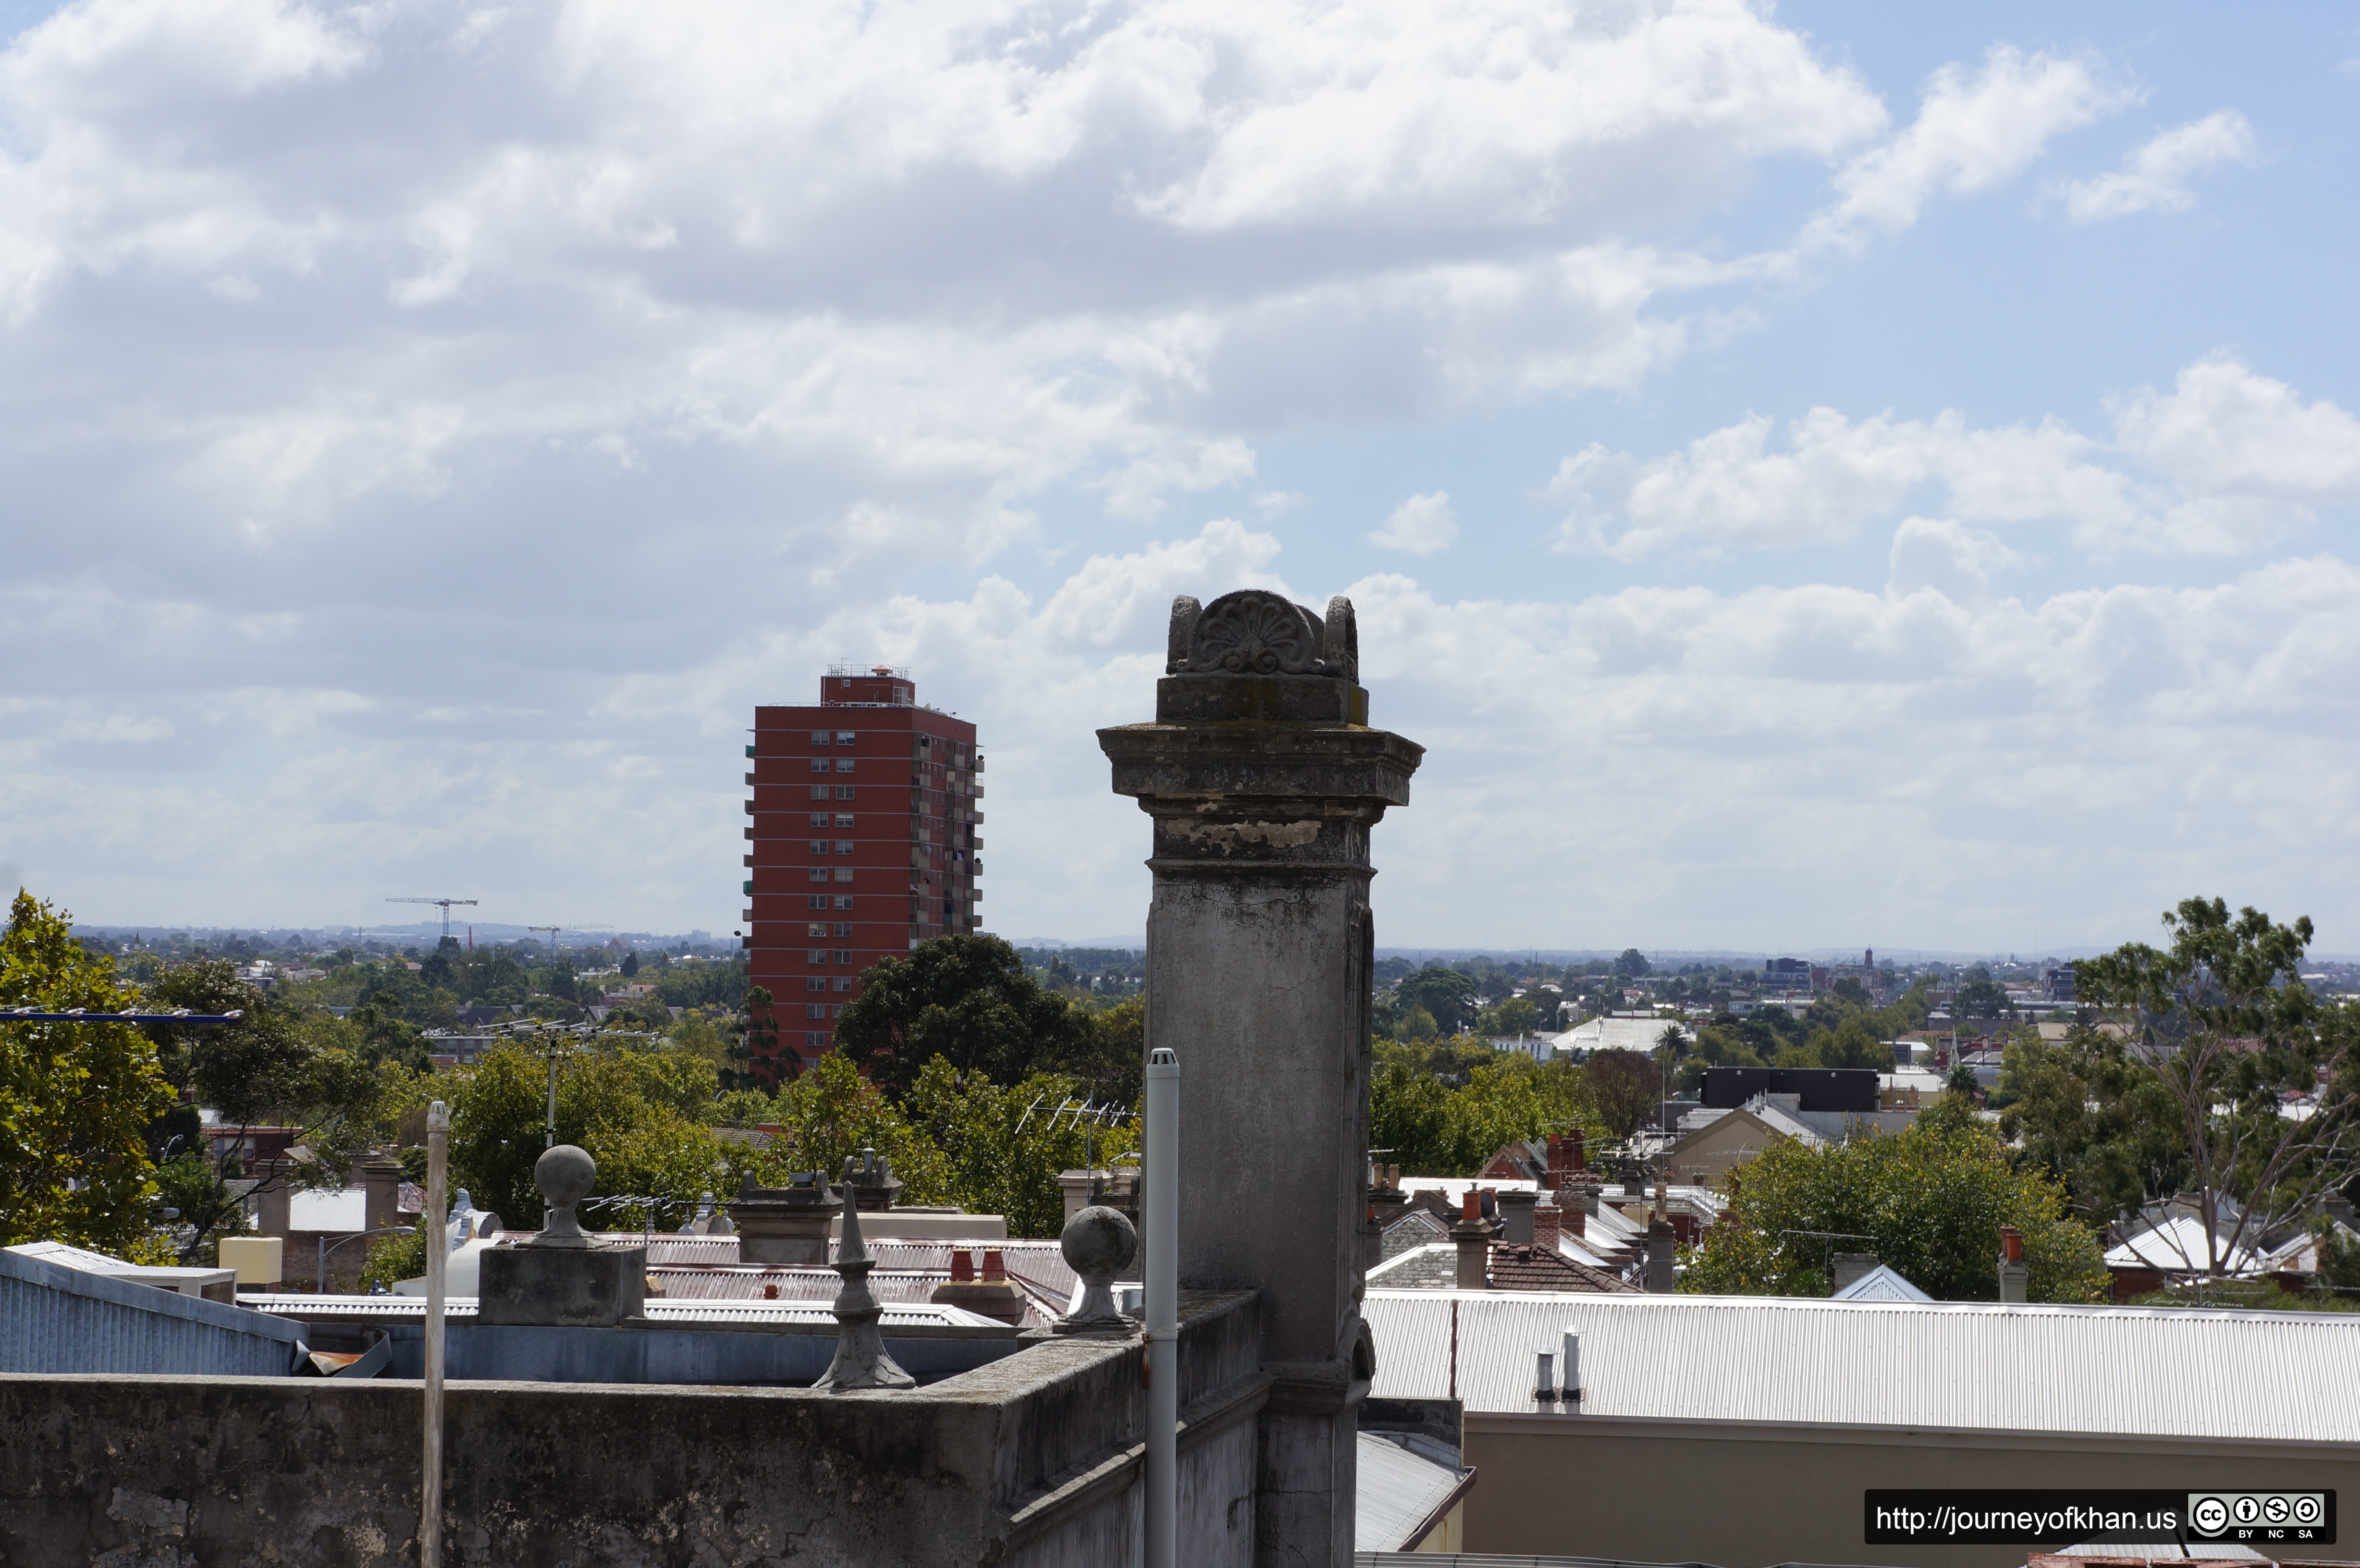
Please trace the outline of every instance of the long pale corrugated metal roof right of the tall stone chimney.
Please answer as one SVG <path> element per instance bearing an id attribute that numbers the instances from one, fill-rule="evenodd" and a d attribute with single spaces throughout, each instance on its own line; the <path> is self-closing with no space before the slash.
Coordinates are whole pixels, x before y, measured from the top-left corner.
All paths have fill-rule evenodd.
<path id="1" fill-rule="evenodd" d="M 1588 1415 L 2360 1440 L 2360 1313 L 1378 1292 L 1381 1398 L 1532 1410 L 1581 1332 Z"/>

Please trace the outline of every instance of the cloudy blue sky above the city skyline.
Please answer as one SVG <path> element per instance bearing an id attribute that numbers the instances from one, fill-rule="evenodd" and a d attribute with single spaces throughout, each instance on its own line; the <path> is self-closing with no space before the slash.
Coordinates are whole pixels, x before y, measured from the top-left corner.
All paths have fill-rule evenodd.
<path id="1" fill-rule="evenodd" d="M 1388 947 L 2360 949 L 2341 5 L 0 0 L 0 881 L 739 928 L 826 664 L 1145 928 L 1352 597 Z"/>

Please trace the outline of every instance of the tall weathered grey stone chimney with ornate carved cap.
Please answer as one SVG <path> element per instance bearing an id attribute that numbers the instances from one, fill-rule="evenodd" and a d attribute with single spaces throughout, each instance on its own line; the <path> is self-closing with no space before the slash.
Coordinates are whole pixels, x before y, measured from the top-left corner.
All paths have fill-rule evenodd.
<path id="1" fill-rule="evenodd" d="M 1350 600 L 1173 600 L 1156 718 L 1100 730 L 1154 819 L 1149 1044 L 1180 1053 L 1180 1285 L 1258 1289 L 1256 1561 L 1352 1561 L 1369 829 L 1423 749 L 1369 730 Z M 1286 1202 L 1270 1202 L 1284 1193 Z"/>

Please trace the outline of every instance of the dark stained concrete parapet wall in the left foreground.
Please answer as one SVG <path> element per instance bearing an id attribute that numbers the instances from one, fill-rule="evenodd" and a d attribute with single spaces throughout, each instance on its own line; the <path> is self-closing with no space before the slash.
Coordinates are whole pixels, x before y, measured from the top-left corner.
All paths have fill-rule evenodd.
<path id="1" fill-rule="evenodd" d="M 1182 1556 L 1246 1563 L 1253 1299 L 1194 1308 L 1185 1377 L 1218 1419 L 1187 1443 Z M 1112 1568 L 1138 1540 L 1140 1363 L 1119 1337 L 911 1391 L 453 1381 L 444 1556 Z M 415 1563 L 418 1452 L 406 1379 L 7 1374 L 0 1561 Z"/>

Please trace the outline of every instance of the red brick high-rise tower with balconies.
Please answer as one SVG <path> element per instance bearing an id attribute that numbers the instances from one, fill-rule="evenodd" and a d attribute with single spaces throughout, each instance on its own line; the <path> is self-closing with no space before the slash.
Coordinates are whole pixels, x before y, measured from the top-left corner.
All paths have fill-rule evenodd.
<path id="1" fill-rule="evenodd" d="M 746 756 L 750 982 L 779 1051 L 809 1063 L 864 968 L 982 926 L 984 758 L 975 725 L 920 708 L 890 666 L 833 666 L 819 704 L 755 708 Z"/>

